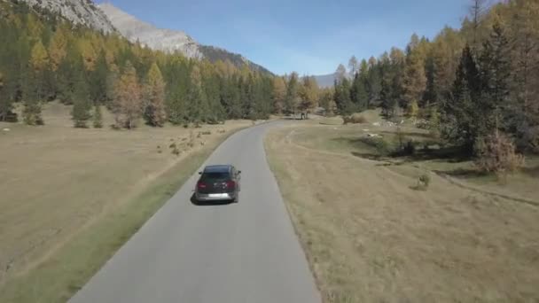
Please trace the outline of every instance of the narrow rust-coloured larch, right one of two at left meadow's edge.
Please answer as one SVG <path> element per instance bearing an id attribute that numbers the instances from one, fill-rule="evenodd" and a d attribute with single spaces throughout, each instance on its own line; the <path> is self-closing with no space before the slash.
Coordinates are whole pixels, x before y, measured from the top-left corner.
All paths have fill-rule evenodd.
<path id="1" fill-rule="evenodd" d="M 159 66 L 153 63 L 145 82 L 145 120 L 149 125 L 162 127 L 167 120 L 165 86 Z"/>

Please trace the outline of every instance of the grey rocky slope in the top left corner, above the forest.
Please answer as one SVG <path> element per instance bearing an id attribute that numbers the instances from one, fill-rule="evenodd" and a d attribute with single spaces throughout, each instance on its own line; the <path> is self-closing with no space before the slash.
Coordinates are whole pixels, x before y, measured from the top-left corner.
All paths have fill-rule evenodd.
<path id="1" fill-rule="evenodd" d="M 105 33 L 114 32 L 111 21 L 91 0 L 23 0 L 30 6 L 59 13 L 63 18 L 74 24 L 102 30 Z"/>

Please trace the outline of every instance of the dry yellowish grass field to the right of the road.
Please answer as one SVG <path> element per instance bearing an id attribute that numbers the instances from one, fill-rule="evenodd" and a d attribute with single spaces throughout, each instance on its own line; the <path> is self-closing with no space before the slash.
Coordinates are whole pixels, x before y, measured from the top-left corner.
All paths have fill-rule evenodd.
<path id="1" fill-rule="evenodd" d="M 370 122 L 313 120 L 266 138 L 270 167 L 324 300 L 539 300 L 539 207 L 519 201 L 539 201 L 536 159 L 505 183 L 474 174 L 446 177 L 438 171 L 473 166 L 373 160 L 379 149 L 365 144 L 366 134 L 391 138 L 394 128 Z M 428 139 L 417 128 L 402 131 Z M 431 185 L 413 190 L 423 174 Z"/>

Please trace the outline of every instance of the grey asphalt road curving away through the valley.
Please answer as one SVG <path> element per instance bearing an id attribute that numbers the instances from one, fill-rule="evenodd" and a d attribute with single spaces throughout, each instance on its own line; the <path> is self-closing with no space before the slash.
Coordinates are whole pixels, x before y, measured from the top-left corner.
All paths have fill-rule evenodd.
<path id="1" fill-rule="evenodd" d="M 230 136 L 205 165 L 242 170 L 239 203 L 195 206 L 193 175 L 70 302 L 320 302 L 263 136 L 281 122 Z"/>

